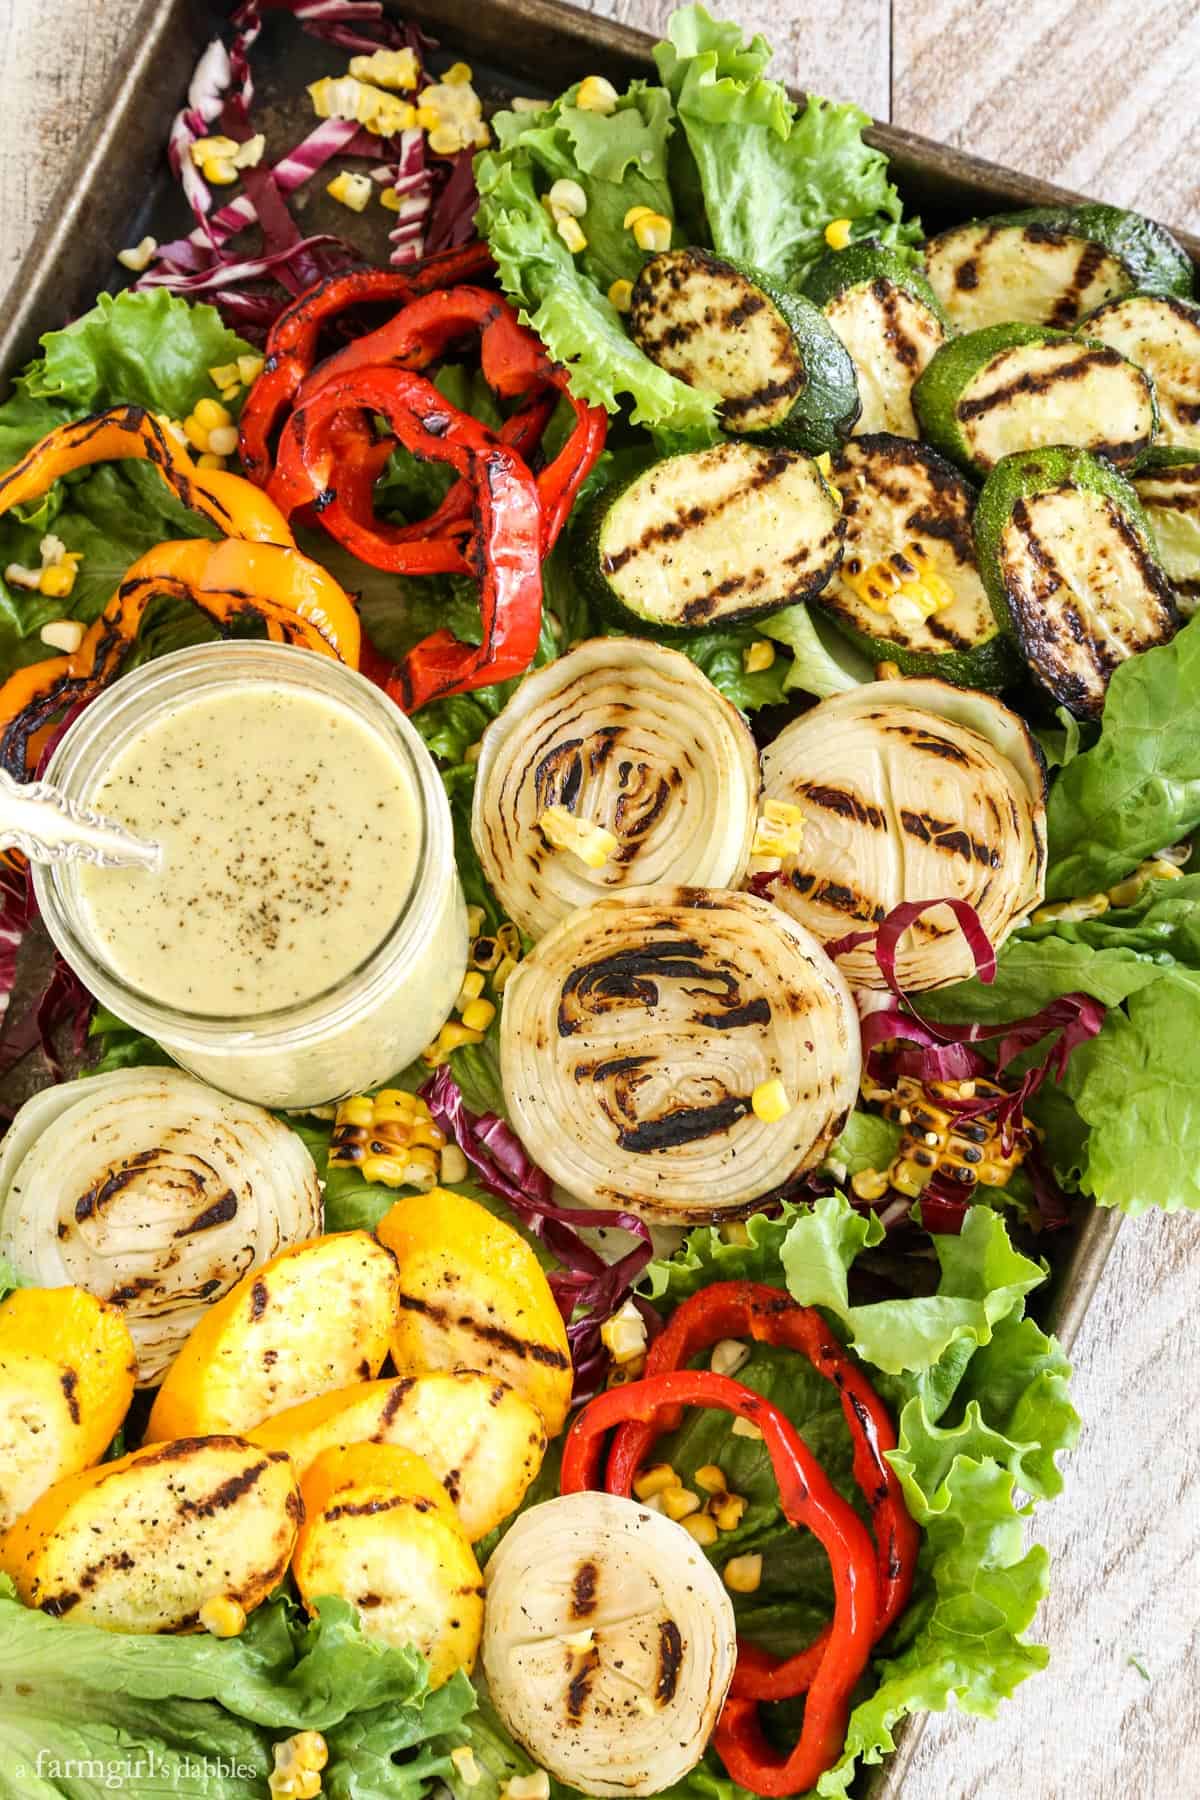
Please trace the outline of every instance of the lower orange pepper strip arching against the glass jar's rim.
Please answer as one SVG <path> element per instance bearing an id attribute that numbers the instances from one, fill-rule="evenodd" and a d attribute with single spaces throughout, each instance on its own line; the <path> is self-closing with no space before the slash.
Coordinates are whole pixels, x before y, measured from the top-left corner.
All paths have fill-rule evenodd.
<path id="1" fill-rule="evenodd" d="M 272 643 L 358 666 L 362 632 L 353 601 L 308 556 L 236 538 L 160 544 L 126 571 L 72 655 L 32 662 L 0 688 L 0 767 L 18 781 L 32 776 L 41 727 L 65 707 L 94 698 L 119 673 L 158 594 L 191 599 L 223 632 L 252 621 Z"/>

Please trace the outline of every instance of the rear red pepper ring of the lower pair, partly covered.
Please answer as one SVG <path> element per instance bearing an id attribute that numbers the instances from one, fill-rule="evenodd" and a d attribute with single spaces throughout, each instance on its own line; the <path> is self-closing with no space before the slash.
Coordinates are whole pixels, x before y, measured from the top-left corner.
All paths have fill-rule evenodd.
<path id="1" fill-rule="evenodd" d="M 909 1604 L 921 1541 L 905 1507 L 900 1478 L 885 1458 L 885 1451 L 896 1449 L 896 1429 L 887 1408 L 820 1314 L 813 1307 L 799 1307 L 786 1292 L 765 1282 L 714 1282 L 685 1300 L 649 1346 L 646 1375 L 685 1368 L 693 1357 L 711 1350 L 721 1337 L 754 1337 L 756 1343 L 799 1350 L 817 1373 L 838 1390 L 855 1444 L 855 1481 L 871 1508 L 874 1528 L 878 1584 L 874 1636 L 882 1638 Z M 675 1431 L 676 1426 L 678 1411 L 664 1413 L 648 1424 L 622 1426 L 613 1438 L 610 1474 L 631 1485 L 655 1438 L 664 1431 Z M 802 1694 L 820 1663 L 826 1636 L 822 1633 L 808 1649 L 783 1660 L 754 1645 L 743 1645 L 732 1692 L 754 1699 L 788 1699 Z"/>

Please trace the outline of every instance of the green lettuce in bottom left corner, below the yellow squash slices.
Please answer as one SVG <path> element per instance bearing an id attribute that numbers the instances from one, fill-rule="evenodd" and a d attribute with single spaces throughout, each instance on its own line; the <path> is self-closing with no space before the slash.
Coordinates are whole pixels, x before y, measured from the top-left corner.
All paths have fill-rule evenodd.
<path id="1" fill-rule="evenodd" d="M 419 1800 L 443 1759 L 381 1773 L 381 1742 L 417 1748 L 473 1703 L 464 1674 L 430 1694 L 425 1660 L 372 1643 L 345 1600 L 320 1600 L 309 1622 L 277 1595 L 239 1638 L 139 1638 L 65 1625 L 0 1577 L 0 1753 L 27 1800 L 113 1786 L 241 1800 L 264 1791 L 272 1744 L 297 1730 L 326 1733 L 327 1793 Z"/>

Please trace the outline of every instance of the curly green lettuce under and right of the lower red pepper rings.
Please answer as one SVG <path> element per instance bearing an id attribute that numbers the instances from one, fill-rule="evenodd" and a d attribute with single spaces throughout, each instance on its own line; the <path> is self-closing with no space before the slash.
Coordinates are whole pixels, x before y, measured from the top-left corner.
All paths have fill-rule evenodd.
<path id="1" fill-rule="evenodd" d="M 1022 1516 L 1061 1490 L 1056 1458 L 1076 1442 L 1079 1420 L 1067 1359 L 1024 1312 L 1043 1271 L 1013 1249 L 988 1208 L 972 1211 L 963 1238 L 934 1240 L 936 1296 L 874 1307 L 855 1307 L 847 1294 L 856 1258 L 882 1233 L 840 1195 L 750 1219 L 747 1237 L 727 1244 L 720 1231 L 693 1231 L 675 1256 L 649 1265 L 644 1291 L 671 1312 L 709 1282 L 756 1280 L 786 1285 L 833 1314 L 855 1334 L 892 1408 L 891 1462 L 923 1528 L 912 1602 L 869 1670 L 873 1687 L 851 1714 L 842 1759 L 817 1784 L 833 1800 L 849 1793 L 858 1764 L 880 1762 L 894 1748 L 905 1715 L 946 1706 L 993 1714 L 1045 1667 L 1047 1652 L 1025 1643 L 1024 1633 L 1047 1589 L 1047 1557 L 1025 1548 Z M 849 1433 L 828 1382 L 804 1359 L 763 1346 L 738 1379 L 788 1413 L 835 1485 L 858 1503 Z M 750 1507 L 720 1548 L 721 1559 L 763 1553 L 759 1591 L 736 1598 L 739 1631 L 777 1654 L 799 1649 L 829 1616 L 828 1564 L 779 1516 L 761 1444 L 734 1438 L 714 1413 L 689 1413 L 658 1449 L 685 1476 L 702 1462 L 720 1463 L 729 1485 L 747 1494 Z M 671 1795 L 741 1800 L 712 1753 Z"/>

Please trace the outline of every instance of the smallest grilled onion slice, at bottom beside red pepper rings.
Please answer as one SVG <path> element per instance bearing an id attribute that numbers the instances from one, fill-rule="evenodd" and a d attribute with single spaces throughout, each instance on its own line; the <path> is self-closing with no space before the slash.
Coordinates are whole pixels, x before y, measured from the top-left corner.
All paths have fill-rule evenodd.
<path id="1" fill-rule="evenodd" d="M 657 1795 L 700 1762 L 738 1645 L 680 1525 L 565 1494 L 516 1521 L 484 1580 L 488 1688 L 534 1762 L 585 1795 Z"/>

